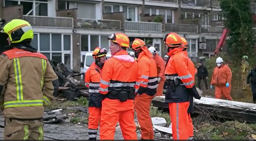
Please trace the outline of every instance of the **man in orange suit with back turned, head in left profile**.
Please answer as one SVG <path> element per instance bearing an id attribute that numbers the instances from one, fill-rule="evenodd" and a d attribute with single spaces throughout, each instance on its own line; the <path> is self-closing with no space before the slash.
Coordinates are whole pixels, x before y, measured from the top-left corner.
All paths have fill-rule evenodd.
<path id="1" fill-rule="evenodd" d="M 124 139 L 137 139 L 134 87 L 138 78 L 138 64 L 126 51 L 130 43 L 126 34 L 113 33 L 108 40 L 111 41 L 109 50 L 113 56 L 105 62 L 100 80 L 100 139 L 113 140 L 118 121 Z"/>

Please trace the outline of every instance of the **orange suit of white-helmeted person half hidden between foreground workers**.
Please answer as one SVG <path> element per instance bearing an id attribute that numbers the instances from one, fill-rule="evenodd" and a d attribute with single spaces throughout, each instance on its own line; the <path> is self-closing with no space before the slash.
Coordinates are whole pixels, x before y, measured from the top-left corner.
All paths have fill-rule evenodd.
<path id="1" fill-rule="evenodd" d="M 161 78 L 160 83 L 158 83 L 158 89 L 156 91 L 156 96 L 163 96 L 163 85 L 165 83 L 165 61 L 158 54 L 153 58 L 157 66 L 157 76 Z"/>

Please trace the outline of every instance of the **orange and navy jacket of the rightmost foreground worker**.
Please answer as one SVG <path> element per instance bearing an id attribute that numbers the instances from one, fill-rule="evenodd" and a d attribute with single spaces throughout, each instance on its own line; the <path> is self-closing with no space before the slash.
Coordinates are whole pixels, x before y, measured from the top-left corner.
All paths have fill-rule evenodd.
<path id="1" fill-rule="evenodd" d="M 189 101 L 190 94 L 186 89 L 194 87 L 193 77 L 189 72 L 188 59 L 182 50 L 182 48 L 175 48 L 167 54 L 170 59 L 165 68 L 165 76 L 173 89 L 169 94 L 167 92 L 165 94 L 165 100 L 169 103 Z M 178 83 L 174 84 L 174 81 Z"/>

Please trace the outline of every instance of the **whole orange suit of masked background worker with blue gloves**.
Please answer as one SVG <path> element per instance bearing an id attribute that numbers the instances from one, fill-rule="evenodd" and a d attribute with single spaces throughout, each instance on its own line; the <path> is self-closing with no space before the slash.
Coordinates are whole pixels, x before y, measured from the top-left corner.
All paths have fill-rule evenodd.
<path id="1" fill-rule="evenodd" d="M 221 99 L 221 96 L 224 96 L 225 99 L 233 100 L 230 96 L 231 79 L 232 72 L 227 65 L 223 64 L 221 67 L 215 67 L 211 78 L 211 85 L 215 85 L 216 99 Z M 226 87 L 226 83 L 229 83 L 228 87 Z"/>

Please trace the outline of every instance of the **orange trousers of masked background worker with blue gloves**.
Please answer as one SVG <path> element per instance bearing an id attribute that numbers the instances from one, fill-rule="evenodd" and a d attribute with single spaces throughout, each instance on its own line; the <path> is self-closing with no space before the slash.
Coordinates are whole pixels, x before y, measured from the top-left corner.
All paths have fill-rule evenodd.
<path id="1" fill-rule="evenodd" d="M 221 99 L 221 97 L 223 96 L 225 99 L 233 100 L 232 97 L 230 96 L 230 92 L 231 92 L 231 85 L 229 85 L 229 87 L 215 86 L 216 99 Z"/>

